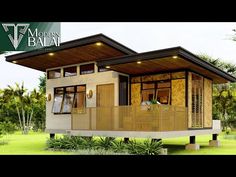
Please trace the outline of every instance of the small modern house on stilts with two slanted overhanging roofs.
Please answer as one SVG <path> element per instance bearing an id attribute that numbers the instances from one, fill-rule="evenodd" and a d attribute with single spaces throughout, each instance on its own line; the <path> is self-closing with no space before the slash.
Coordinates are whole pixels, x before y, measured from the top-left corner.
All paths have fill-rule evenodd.
<path id="1" fill-rule="evenodd" d="M 212 134 L 218 145 L 212 85 L 236 81 L 182 47 L 136 53 L 103 34 L 6 60 L 47 73 L 51 137 L 189 136 L 187 148 L 198 149 L 195 136 Z"/>

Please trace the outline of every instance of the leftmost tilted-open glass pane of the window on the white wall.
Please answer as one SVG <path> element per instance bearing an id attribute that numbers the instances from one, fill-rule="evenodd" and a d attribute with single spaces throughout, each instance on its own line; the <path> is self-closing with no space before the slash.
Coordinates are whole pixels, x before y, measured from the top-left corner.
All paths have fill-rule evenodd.
<path id="1" fill-rule="evenodd" d="M 52 108 L 53 113 L 61 112 L 62 101 L 63 101 L 63 88 L 56 88 L 54 95 L 54 103 Z"/>

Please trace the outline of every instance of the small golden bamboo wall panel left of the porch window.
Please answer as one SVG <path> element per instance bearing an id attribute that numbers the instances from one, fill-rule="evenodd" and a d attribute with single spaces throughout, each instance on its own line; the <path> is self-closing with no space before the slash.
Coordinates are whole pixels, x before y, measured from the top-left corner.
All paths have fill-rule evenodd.
<path id="1" fill-rule="evenodd" d="M 141 84 L 131 84 L 131 105 L 138 106 L 141 104 Z"/>

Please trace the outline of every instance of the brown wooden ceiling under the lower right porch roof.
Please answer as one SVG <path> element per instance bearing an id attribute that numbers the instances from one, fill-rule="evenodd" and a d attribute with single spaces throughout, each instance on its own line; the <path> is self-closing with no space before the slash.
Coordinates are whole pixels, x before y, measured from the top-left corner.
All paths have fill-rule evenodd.
<path id="1" fill-rule="evenodd" d="M 144 60 L 141 61 L 141 64 L 138 64 L 136 61 L 125 64 L 111 65 L 110 67 L 112 70 L 131 75 L 143 75 L 149 73 L 162 73 L 188 69 L 200 73 L 208 78 L 211 78 L 214 83 L 225 83 L 228 81 L 223 77 L 220 77 L 219 75 L 209 70 L 206 70 L 192 62 L 189 62 L 181 57 L 165 57 L 152 60 Z"/>

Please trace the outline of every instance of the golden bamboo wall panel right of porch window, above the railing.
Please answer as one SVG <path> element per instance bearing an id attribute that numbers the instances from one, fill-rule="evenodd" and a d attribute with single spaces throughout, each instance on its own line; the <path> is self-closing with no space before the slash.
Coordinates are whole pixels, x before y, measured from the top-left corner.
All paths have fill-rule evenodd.
<path id="1" fill-rule="evenodd" d="M 171 105 L 185 107 L 185 79 L 171 80 Z"/>

